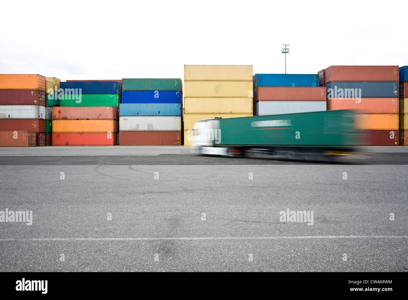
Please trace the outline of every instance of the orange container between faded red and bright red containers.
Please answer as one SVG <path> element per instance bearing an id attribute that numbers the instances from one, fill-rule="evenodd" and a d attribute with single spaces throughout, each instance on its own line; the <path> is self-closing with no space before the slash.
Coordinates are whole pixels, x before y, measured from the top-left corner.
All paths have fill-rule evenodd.
<path id="1" fill-rule="evenodd" d="M 116 120 L 52 120 L 54 132 L 116 132 Z"/>

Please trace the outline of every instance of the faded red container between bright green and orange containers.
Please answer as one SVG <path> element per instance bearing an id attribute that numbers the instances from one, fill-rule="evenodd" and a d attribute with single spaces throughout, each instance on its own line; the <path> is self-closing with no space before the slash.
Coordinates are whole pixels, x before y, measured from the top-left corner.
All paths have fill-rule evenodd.
<path id="1" fill-rule="evenodd" d="M 53 120 L 119 120 L 118 107 L 53 107 Z"/>

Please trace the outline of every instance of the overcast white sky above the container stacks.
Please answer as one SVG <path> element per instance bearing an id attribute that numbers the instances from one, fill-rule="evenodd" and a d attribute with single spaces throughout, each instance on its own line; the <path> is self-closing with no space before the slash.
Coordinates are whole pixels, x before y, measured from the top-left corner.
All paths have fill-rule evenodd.
<path id="1" fill-rule="evenodd" d="M 184 64 L 253 73 L 408 64 L 408 1 L 3 1 L 0 73 L 183 78 Z M 405 18 L 405 19 L 404 19 Z"/>

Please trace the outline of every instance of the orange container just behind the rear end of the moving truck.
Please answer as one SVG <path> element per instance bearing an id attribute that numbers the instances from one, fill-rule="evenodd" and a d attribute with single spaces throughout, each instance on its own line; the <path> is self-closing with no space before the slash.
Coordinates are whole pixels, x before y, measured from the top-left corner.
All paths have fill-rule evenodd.
<path id="1" fill-rule="evenodd" d="M 398 129 L 397 114 L 357 114 L 355 115 L 356 129 Z"/>

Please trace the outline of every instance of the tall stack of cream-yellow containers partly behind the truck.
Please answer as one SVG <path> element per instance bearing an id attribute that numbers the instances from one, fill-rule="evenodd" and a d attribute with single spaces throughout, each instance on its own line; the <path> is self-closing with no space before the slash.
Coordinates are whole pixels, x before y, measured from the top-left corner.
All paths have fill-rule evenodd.
<path id="1" fill-rule="evenodd" d="M 252 65 L 184 65 L 184 145 L 197 120 L 253 116 Z"/>

